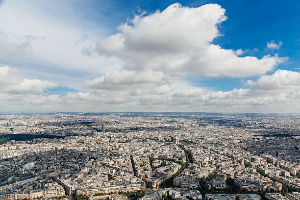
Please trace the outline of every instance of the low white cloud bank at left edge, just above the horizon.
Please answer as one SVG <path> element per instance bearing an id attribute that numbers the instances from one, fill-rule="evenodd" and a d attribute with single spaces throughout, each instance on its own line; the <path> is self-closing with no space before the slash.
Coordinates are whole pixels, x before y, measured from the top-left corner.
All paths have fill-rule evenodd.
<path id="1" fill-rule="evenodd" d="M 28 79 L 18 69 L 0 67 L 0 112 L 45 112 L 63 109 L 61 95 L 45 95 L 58 86 L 47 80 Z"/>

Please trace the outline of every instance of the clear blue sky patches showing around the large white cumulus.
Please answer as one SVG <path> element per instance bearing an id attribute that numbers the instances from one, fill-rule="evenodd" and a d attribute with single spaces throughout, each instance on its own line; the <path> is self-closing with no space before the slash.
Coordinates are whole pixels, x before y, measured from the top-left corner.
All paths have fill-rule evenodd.
<path id="1" fill-rule="evenodd" d="M 274 50 L 266 48 L 270 40 L 282 41 L 281 49 L 275 50 L 280 56 L 289 57 L 289 62 L 278 65 L 277 69 L 300 72 L 300 3 L 297 0 L 288 2 L 280 0 L 110 0 L 110 1 L 76 1 L 74 7 L 82 12 L 83 19 L 105 29 L 101 34 L 109 36 L 117 32 L 116 27 L 125 23 L 134 14 L 141 11 L 154 13 L 164 10 L 170 4 L 179 2 L 183 6 L 199 7 L 206 3 L 217 3 L 226 9 L 228 19 L 220 25 L 224 36 L 214 39 L 225 49 L 249 49 L 244 55 L 262 57 L 272 54 Z M 251 51 L 257 49 L 257 51 Z M 288 50 L 283 50 L 288 49 Z M 257 77 L 250 77 L 255 80 Z M 244 87 L 240 78 L 201 78 L 199 75 L 188 75 L 186 78 L 195 86 L 212 90 L 230 91 Z M 245 88 L 245 87 L 244 87 Z"/>

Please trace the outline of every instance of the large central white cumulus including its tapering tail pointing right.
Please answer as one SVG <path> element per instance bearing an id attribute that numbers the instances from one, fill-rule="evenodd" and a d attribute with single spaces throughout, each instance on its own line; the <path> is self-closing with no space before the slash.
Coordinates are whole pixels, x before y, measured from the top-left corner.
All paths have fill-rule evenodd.
<path id="1" fill-rule="evenodd" d="M 164 11 L 120 25 L 119 32 L 101 40 L 100 54 L 117 56 L 129 71 L 146 69 L 164 72 L 177 79 L 186 73 L 207 77 L 248 77 L 262 75 L 286 58 L 266 55 L 240 57 L 247 50 L 226 50 L 210 44 L 221 33 L 218 25 L 226 20 L 218 4 L 198 8 L 170 5 Z"/>

